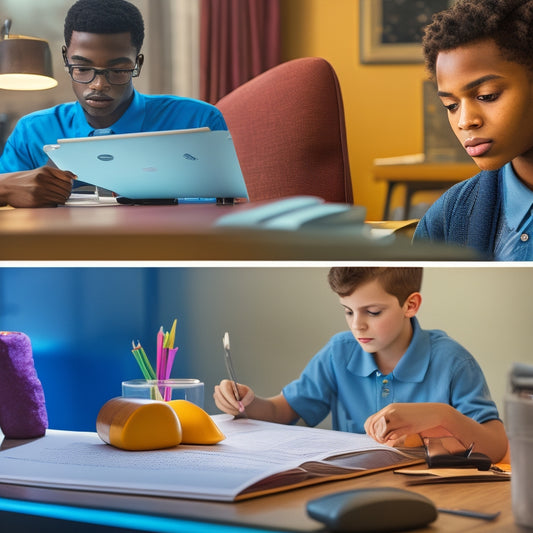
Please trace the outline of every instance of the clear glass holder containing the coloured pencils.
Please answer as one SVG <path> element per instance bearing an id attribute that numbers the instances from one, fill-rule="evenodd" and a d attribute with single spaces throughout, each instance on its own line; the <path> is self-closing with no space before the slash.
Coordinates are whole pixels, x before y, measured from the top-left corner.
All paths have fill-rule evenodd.
<path id="1" fill-rule="evenodd" d="M 130 379 L 122 382 L 125 398 L 187 400 L 203 409 L 204 384 L 199 379 Z"/>

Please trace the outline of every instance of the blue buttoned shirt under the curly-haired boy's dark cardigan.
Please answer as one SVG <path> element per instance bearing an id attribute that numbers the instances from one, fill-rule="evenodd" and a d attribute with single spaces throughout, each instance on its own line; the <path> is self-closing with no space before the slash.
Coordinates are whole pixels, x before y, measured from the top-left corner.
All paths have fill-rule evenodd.
<path id="1" fill-rule="evenodd" d="M 494 245 L 496 261 L 533 260 L 533 191 L 517 177 L 511 163 L 503 167 L 502 213 Z"/>

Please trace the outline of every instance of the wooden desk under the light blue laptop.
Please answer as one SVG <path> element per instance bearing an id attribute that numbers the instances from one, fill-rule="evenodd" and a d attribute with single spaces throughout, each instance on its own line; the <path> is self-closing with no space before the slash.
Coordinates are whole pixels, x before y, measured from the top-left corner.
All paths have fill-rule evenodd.
<path id="1" fill-rule="evenodd" d="M 0 209 L 0 260 L 468 260 L 462 248 L 329 230 L 215 227 L 253 204 Z"/>

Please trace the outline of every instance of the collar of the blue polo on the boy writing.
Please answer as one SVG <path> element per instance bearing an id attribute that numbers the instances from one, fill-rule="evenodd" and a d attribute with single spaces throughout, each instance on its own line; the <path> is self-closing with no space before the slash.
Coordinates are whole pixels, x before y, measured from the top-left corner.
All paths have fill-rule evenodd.
<path id="1" fill-rule="evenodd" d="M 407 351 L 403 354 L 392 374 L 400 381 L 419 383 L 424 380 L 429 366 L 431 352 L 430 338 L 429 333 L 420 327 L 416 317 L 411 318 L 411 326 L 413 328 L 413 337 L 411 338 Z M 370 376 L 378 370 L 372 354 L 359 352 L 356 357 L 360 357 L 361 359 L 355 361 L 355 358 L 353 358 L 351 363 L 348 364 L 348 370 L 354 374 L 358 376 Z"/>

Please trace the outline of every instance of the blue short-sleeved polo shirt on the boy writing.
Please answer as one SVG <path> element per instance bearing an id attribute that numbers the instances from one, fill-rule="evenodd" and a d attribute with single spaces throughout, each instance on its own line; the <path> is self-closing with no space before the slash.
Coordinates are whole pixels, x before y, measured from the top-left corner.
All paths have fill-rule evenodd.
<path id="1" fill-rule="evenodd" d="M 379 371 L 350 331 L 338 333 L 283 389 L 289 405 L 310 426 L 331 411 L 332 427 L 364 433 L 370 416 L 390 403 L 447 403 L 479 423 L 499 419 L 476 360 L 439 330 L 411 319 L 413 338 L 396 368 Z"/>

